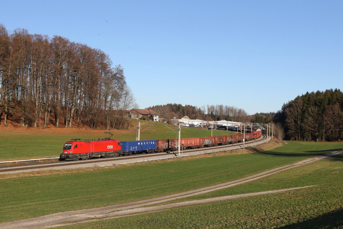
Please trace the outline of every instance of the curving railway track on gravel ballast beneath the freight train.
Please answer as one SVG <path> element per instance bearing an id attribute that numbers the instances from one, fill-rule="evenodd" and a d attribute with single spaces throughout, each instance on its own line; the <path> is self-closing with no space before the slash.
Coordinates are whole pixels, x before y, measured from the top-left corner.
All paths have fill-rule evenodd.
<path id="1" fill-rule="evenodd" d="M 263 141 L 267 138 L 266 135 L 262 134 L 259 139 L 256 139 L 256 142 Z M 254 140 L 246 141 L 245 144 L 251 144 Z M 211 153 L 213 150 L 220 149 L 229 149 L 233 146 L 243 146 L 243 142 L 235 143 L 235 144 L 228 144 L 228 145 L 221 145 L 221 146 L 213 146 L 213 147 L 205 147 L 205 148 L 196 148 L 196 149 L 187 149 L 183 150 L 183 153 L 187 152 L 200 152 L 205 151 L 205 153 Z M 240 147 L 243 148 L 243 147 Z M 211 152 L 206 152 L 211 151 Z M 218 151 L 217 151 L 218 152 Z M 80 165 L 80 164 L 90 164 L 90 163 L 98 163 L 98 162 L 109 162 L 109 161 L 118 161 L 124 159 L 138 159 L 138 158 L 149 158 L 155 157 L 159 155 L 166 155 L 166 154 L 175 154 L 177 156 L 177 152 L 169 151 L 169 152 L 162 152 L 162 153 L 149 153 L 149 154 L 139 154 L 139 155 L 131 155 L 131 156 L 120 156 L 115 158 L 98 158 L 98 159 L 88 159 L 88 160 L 80 160 L 80 161 L 53 161 L 53 162 L 44 162 L 44 163 L 34 163 L 34 164 L 21 164 L 21 165 L 11 165 L 11 166 L 1 166 L 1 172 L 11 172 L 11 171 L 20 171 L 20 170 L 31 170 L 31 169 L 44 169 L 50 167 L 62 167 L 66 165 Z"/>

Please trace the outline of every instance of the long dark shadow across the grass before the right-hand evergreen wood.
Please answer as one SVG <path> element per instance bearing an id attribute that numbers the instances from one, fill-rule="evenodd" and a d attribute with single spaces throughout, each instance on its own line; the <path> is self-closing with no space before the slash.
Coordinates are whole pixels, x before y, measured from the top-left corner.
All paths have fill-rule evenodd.
<path id="1" fill-rule="evenodd" d="M 340 148 L 340 149 L 318 150 L 318 151 L 302 151 L 300 153 L 284 153 L 284 152 L 277 152 L 277 151 L 271 151 L 271 150 L 268 150 L 268 151 L 258 151 L 258 150 L 254 149 L 254 148 L 251 148 L 250 150 L 254 151 L 255 153 L 265 155 L 265 156 L 276 156 L 276 157 L 312 156 L 312 157 L 317 157 L 317 156 L 323 156 L 323 155 L 325 155 L 327 153 L 339 151 L 339 150 L 342 150 L 342 149 Z M 343 152 L 338 154 L 338 155 L 328 157 L 327 159 L 342 161 L 343 160 Z"/>

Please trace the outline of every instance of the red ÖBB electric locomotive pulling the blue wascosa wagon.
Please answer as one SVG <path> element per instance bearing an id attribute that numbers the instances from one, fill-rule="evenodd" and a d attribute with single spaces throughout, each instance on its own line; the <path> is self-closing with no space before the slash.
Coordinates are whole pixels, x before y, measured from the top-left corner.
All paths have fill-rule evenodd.
<path id="1" fill-rule="evenodd" d="M 64 144 L 59 160 L 79 160 L 96 157 L 115 157 L 124 154 L 118 140 L 105 138 L 98 140 L 71 139 Z"/>

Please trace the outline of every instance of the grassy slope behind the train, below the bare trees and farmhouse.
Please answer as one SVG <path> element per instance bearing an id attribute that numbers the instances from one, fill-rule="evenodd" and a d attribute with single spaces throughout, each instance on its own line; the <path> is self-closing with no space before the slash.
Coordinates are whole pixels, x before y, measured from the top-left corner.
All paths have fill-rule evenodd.
<path id="1" fill-rule="evenodd" d="M 164 123 L 140 121 L 141 130 L 150 127 L 150 130 L 144 130 L 141 140 L 154 140 L 176 138 L 176 133 L 171 133 Z M 138 120 L 132 119 L 132 126 L 138 126 Z M 176 129 L 175 126 L 169 126 Z M 130 130 L 110 130 L 114 136 L 112 138 L 131 141 L 136 138 L 135 128 Z M 155 130 L 155 131 L 151 131 Z M 106 130 L 85 130 L 76 128 L 0 128 L 0 161 L 25 160 L 36 158 L 59 157 L 62 147 L 66 141 L 72 138 L 93 139 L 105 138 L 110 135 L 105 134 Z M 236 132 L 225 130 L 213 130 L 213 136 L 236 134 Z M 182 138 L 208 137 L 211 136 L 211 130 L 196 128 L 181 128 Z"/>

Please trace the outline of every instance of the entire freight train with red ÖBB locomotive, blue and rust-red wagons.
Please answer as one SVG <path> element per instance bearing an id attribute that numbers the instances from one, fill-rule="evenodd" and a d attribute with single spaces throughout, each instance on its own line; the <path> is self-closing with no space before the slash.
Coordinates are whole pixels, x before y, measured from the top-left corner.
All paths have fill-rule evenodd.
<path id="1" fill-rule="evenodd" d="M 259 138 L 261 130 L 255 132 L 227 136 L 181 138 L 180 146 L 185 148 L 200 148 L 206 146 L 226 145 Z M 71 139 L 64 144 L 59 160 L 79 160 L 99 157 L 125 156 L 137 152 L 173 151 L 177 148 L 177 139 L 118 141 L 111 138 L 104 139 Z"/>

